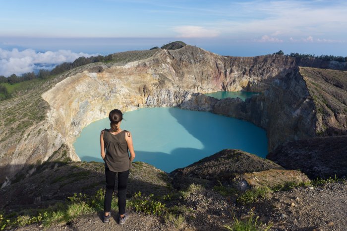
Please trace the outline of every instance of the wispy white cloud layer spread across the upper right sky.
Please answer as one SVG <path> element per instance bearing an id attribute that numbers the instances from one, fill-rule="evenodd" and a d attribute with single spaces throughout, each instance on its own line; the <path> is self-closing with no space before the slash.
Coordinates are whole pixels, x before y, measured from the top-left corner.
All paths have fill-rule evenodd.
<path id="1" fill-rule="evenodd" d="M 173 31 L 178 37 L 225 36 L 272 43 L 294 42 L 290 37 L 305 38 L 295 42 L 330 43 L 346 38 L 346 31 L 342 30 L 347 27 L 346 1 L 236 0 L 225 4 L 223 12 L 228 13 L 211 9 L 205 12 L 210 20 L 196 22 L 195 26 L 177 25 Z M 212 33 L 207 28 L 212 28 Z M 312 37 L 321 39 L 313 40 Z"/>

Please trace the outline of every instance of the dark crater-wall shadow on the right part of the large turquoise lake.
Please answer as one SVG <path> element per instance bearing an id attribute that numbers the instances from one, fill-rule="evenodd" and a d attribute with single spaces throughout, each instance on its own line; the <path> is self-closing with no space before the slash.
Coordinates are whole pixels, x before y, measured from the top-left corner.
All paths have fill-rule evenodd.
<path id="1" fill-rule="evenodd" d="M 204 152 L 228 148 L 266 156 L 267 138 L 264 129 L 250 122 L 210 112 L 191 111 L 183 114 L 179 110 L 182 109 L 170 108 L 169 112 L 189 134 L 204 144 Z M 228 144 L 228 147 L 216 147 L 221 143 Z"/>

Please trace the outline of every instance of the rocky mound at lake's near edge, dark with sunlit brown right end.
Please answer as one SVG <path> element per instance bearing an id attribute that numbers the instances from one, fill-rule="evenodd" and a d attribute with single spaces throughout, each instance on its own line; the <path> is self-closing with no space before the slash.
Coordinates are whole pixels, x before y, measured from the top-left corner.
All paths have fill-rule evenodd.
<path id="1" fill-rule="evenodd" d="M 277 186 L 288 182 L 309 181 L 305 174 L 296 170 L 285 170 L 280 165 L 240 150 L 226 149 L 203 158 L 189 166 L 170 173 L 174 187 L 181 187 L 191 178 L 206 179 L 213 184 L 233 186 L 240 191 L 251 187 Z"/>

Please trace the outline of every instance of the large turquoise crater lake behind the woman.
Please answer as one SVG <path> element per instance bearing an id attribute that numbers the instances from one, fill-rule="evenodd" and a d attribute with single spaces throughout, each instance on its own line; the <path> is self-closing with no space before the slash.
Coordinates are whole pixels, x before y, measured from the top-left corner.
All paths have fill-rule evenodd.
<path id="1" fill-rule="evenodd" d="M 100 161 L 100 132 L 108 118 L 85 127 L 74 143 L 84 161 Z M 264 129 L 231 117 L 179 108 L 141 108 L 125 112 L 121 129 L 131 132 L 136 158 L 164 171 L 187 166 L 223 149 L 267 154 Z"/>

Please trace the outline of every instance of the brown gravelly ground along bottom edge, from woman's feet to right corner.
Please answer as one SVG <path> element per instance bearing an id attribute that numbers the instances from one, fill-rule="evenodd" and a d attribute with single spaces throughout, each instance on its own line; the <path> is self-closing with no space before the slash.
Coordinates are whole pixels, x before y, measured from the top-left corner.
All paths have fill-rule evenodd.
<path id="1" fill-rule="evenodd" d="M 226 231 L 223 226 L 231 224 L 232 213 L 245 220 L 253 207 L 263 224 L 273 224 L 272 231 L 346 231 L 346 190 L 346 183 L 299 187 L 272 193 L 269 198 L 246 206 L 237 204 L 233 197 L 222 197 L 215 192 L 195 192 L 182 202 L 194 211 L 185 216 L 185 222 L 178 228 L 165 224 L 163 218 L 130 212 L 129 220 L 123 226 L 117 224 L 115 214 L 110 224 L 103 224 L 99 213 L 84 215 L 69 224 L 58 224 L 45 230 Z M 35 224 L 14 230 L 41 231 L 44 227 Z"/>

